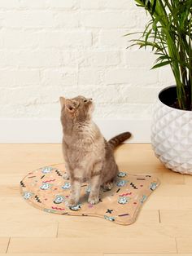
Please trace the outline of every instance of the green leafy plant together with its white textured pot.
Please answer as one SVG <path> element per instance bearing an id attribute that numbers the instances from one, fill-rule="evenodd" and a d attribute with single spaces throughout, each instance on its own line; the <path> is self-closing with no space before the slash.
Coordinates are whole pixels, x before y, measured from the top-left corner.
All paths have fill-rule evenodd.
<path id="1" fill-rule="evenodd" d="M 157 55 L 153 68 L 170 65 L 176 82 L 159 92 L 152 117 L 152 147 L 166 167 L 192 174 L 192 0 L 135 2 L 151 20 L 141 38 L 130 40 L 131 46 L 150 46 Z"/>

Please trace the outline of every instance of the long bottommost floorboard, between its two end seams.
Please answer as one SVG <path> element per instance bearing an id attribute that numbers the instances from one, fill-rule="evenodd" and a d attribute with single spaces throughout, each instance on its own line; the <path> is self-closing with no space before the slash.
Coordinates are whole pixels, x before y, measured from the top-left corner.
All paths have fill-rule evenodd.
<path id="1" fill-rule="evenodd" d="M 103 228 L 101 227 L 101 232 Z M 176 253 L 175 239 L 166 238 L 11 238 L 8 253 Z"/>

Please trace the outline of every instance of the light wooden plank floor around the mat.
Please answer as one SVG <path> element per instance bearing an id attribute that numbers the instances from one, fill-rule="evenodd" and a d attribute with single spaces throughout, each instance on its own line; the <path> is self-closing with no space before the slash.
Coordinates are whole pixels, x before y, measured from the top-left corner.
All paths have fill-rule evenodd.
<path id="1" fill-rule="evenodd" d="M 28 205 L 19 183 L 30 170 L 63 161 L 60 144 L 0 144 L 0 255 L 192 255 L 192 176 L 167 170 L 150 144 L 124 144 L 120 170 L 154 174 L 160 187 L 136 223 L 47 214 Z"/>

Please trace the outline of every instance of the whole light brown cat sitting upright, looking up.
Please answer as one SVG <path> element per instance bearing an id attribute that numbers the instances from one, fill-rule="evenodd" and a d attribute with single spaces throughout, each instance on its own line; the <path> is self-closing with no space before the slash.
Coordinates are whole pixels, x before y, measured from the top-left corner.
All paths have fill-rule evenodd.
<path id="1" fill-rule="evenodd" d="M 119 172 L 113 150 L 124 140 L 129 139 L 131 134 L 124 132 L 107 142 L 92 120 L 92 99 L 84 96 L 59 99 L 60 120 L 63 126 L 63 157 L 71 183 L 68 206 L 78 204 L 81 183 L 85 181 L 89 181 L 91 188 L 88 202 L 92 205 L 97 204 L 100 187 L 110 190 Z"/>

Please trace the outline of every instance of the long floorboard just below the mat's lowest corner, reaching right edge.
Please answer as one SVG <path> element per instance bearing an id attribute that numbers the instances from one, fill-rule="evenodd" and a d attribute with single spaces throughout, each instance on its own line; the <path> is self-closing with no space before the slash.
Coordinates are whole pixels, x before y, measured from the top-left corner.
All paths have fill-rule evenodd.
<path id="1" fill-rule="evenodd" d="M 155 224 L 155 223 L 134 223 L 129 226 L 116 226 L 113 223 L 102 223 L 103 232 L 100 230 L 101 223 L 97 225 L 97 219 L 89 220 L 88 222 L 76 222 L 75 225 L 68 223 L 59 223 L 59 237 L 89 237 L 95 238 L 95 241 L 105 237 L 111 238 L 128 238 L 132 237 L 135 239 L 142 239 L 143 237 L 148 238 L 175 238 L 178 236 L 191 236 L 192 234 L 192 223 L 191 224 Z M 110 225 L 111 224 L 111 225 Z M 70 229 L 71 227 L 71 229 Z M 78 230 L 78 233 L 76 232 Z"/>

